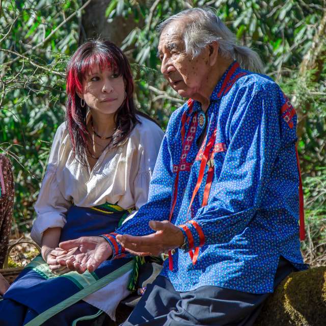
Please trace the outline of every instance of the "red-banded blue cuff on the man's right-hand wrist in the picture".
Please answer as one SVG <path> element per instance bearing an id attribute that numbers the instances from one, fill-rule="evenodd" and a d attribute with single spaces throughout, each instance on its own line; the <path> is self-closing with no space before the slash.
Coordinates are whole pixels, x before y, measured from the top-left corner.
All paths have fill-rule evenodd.
<path id="1" fill-rule="evenodd" d="M 178 226 L 183 233 L 185 246 L 184 252 L 193 250 L 196 247 L 202 247 L 205 244 L 205 235 L 200 224 L 194 220 L 187 221 L 185 224 Z"/>

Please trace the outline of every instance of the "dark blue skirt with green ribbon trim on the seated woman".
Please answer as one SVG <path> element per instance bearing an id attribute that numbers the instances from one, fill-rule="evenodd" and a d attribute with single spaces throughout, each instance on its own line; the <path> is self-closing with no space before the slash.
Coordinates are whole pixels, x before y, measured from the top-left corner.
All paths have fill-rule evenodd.
<path id="1" fill-rule="evenodd" d="M 60 241 L 113 232 L 128 212 L 117 205 L 72 206 Z M 101 310 L 82 301 L 133 268 L 132 258 L 104 261 L 93 273 L 75 271 L 57 276 L 42 257 L 24 268 L 0 301 L 0 325 L 71 325 L 76 318 L 91 320 Z M 75 321 L 76 322 L 76 321 Z"/>

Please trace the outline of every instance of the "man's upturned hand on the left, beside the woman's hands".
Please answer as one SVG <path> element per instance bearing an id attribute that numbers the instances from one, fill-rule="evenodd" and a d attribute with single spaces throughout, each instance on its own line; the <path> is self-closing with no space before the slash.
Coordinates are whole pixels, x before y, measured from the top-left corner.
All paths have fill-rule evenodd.
<path id="1" fill-rule="evenodd" d="M 110 244 L 100 236 L 82 236 L 75 240 L 61 242 L 59 247 L 66 251 L 79 249 L 79 254 L 67 255 L 58 261 L 62 266 L 76 270 L 79 274 L 83 274 L 86 269 L 90 272 L 94 271 L 104 260 L 112 256 Z"/>

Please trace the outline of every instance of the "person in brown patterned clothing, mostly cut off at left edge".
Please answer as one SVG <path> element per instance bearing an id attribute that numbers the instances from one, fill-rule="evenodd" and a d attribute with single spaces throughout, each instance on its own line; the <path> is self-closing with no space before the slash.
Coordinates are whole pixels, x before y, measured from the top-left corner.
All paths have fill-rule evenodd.
<path id="1" fill-rule="evenodd" d="M 8 250 L 11 230 L 12 212 L 14 207 L 14 178 L 10 160 L 0 154 L 0 268 Z M 7 280 L 0 274 L 0 295 L 9 287 Z"/>

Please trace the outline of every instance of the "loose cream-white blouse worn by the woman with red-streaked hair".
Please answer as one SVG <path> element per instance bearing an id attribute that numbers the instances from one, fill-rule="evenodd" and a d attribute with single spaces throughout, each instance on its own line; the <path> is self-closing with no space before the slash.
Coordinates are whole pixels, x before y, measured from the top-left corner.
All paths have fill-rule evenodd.
<path id="1" fill-rule="evenodd" d="M 112 203 L 124 209 L 139 209 L 147 202 L 149 182 L 164 132 L 152 121 L 138 116 L 129 137 L 106 149 L 93 170 L 80 164 L 70 146 L 66 124 L 53 140 L 47 170 L 35 204 L 37 213 L 31 236 L 41 244 L 48 228 L 63 227 L 74 204 L 92 207 Z"/>

